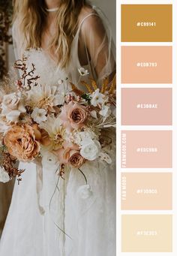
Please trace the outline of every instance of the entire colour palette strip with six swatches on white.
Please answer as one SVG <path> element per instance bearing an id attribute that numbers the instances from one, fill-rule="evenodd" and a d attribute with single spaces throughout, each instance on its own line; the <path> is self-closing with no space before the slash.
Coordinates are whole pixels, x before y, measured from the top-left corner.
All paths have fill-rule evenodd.
<path id="1" fill-rule="evenodd" d="M 119 0 L 117 9 L 117 254 L 173 256 L 177 3 Z"/>

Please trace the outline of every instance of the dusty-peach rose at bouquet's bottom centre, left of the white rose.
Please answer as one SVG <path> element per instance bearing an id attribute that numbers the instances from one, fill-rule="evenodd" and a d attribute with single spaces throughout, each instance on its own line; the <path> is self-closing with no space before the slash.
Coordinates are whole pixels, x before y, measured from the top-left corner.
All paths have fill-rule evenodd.
<path id="1" fill-rule="evenodd" d="M 81 167 L 85 162 L 85 158 L 80 155 L 80 149 L 77 145 L 73 143 L 64 143 L 62 149 L 55 151 L 58 155 L 58 161 L 60 164 L 71 164 L 74 167 Z"/>

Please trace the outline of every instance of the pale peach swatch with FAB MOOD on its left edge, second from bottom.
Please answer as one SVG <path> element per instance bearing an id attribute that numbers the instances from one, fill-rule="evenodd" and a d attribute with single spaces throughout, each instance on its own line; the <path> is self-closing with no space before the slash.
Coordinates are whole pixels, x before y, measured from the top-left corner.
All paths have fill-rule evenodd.
<path id="1" fill-rule="evenodd" d="M 121 173 L 121 209 L 172 209 L 172 173 Z"/>

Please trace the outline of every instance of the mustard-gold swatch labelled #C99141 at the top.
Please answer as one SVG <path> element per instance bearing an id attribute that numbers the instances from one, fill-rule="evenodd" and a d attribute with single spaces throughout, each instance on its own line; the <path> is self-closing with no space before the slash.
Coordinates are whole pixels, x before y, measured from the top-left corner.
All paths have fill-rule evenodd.
<path id="1" fill-rule="evenodd" d="M 121 5 L 122 42 L 171 42 L 172 5 Z"/>

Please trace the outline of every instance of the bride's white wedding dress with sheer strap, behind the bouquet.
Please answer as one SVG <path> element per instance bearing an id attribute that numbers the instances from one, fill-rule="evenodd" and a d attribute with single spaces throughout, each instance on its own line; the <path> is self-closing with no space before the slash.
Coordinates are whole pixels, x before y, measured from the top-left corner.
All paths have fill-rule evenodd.
<path id="1" fill-rule="evenodd" d="M 80 28 L 92 15 L 85 17 Z M 77 82 L 80 28 L 71 46 L 71 70 L 58 69 L 43 50 L 26 52 L 41 84 L 54 85 L 66 77 Z M 115 131 L 107 131 L 107 137 L 112 141 L 106 150 L 113 164 L 84 164 L 81 169 L 88 185 L 74 168 L 68 169 L 64 180 L 53 170 L 39 173 L 36 164 L 20 163 L 26 171 L 20 185 L 15 183 L 1 236 L 1 256 L 115 256 Z"/>

